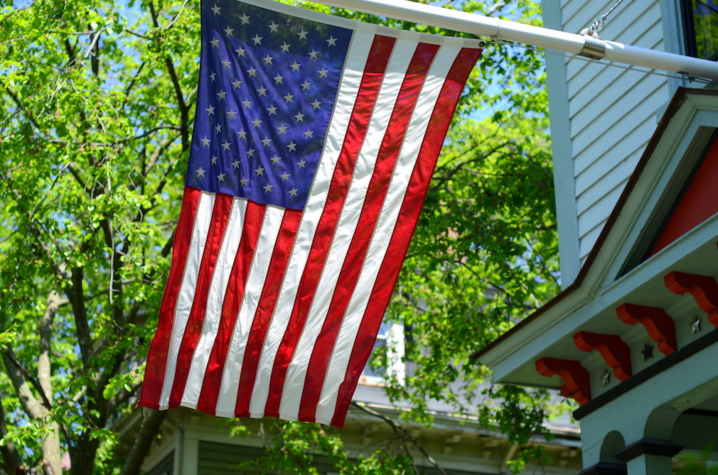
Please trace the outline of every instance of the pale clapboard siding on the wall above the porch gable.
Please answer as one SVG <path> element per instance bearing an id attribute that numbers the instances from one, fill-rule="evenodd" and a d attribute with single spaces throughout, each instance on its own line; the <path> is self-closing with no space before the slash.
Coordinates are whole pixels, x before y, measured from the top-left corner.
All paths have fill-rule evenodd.
<path id="1" fill-rule="evenodd" d="M 561 0 L 561 29 L 578 33 L 614 3 Z M 620 4 L 600 37 L 663 50 L 658 0 Z M 666 77 L 611 67 L 605 61 L 567 58 L 565 68 L 578 255 L 561 258 L 583 263 L 656 130 L 656 111 L 669 99 L 668 82 Z"/>

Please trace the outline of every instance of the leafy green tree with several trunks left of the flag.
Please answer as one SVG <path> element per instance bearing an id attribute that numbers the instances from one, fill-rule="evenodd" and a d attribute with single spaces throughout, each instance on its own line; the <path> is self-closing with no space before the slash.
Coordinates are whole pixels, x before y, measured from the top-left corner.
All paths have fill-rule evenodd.
<path id="1" fill-rule="evenodd" d="M 40 1 L 3 11 L 10 473 L 58 474 L 65 451 L 73 472 L 92 473 L 111 459 L 111 420 L 130 410 L 141 372 L 126 369 L 151 337 L 190 140 L 198 24 L 188 9 Z"/>

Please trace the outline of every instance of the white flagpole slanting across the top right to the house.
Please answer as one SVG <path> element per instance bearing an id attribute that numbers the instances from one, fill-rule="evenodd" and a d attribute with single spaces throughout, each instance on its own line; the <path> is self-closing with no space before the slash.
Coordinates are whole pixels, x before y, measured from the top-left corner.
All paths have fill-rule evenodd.
<path id="1" fill-rule="evenodd" d="M 678 72 L 689 77 L 718 80 L 718 63 L 695 57 L 649 50 L 619 42 L 559 32 L 555 29 L 508 22 L 479 14 L 440 8 L 407 0 L 320 0 L 343 9 L 364 11 L 380 17 L 404 20 L 459 32 L 529 44 L 593 59 Z"/>

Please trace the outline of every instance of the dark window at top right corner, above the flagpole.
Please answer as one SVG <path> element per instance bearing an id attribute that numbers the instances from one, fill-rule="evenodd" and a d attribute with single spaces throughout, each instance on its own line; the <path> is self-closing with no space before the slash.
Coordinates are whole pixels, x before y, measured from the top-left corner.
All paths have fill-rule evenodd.
<path id="1" fill-rule="evenodd" d="M 718 0 L 681 0 L 686 55 L 718 60 Z"/>

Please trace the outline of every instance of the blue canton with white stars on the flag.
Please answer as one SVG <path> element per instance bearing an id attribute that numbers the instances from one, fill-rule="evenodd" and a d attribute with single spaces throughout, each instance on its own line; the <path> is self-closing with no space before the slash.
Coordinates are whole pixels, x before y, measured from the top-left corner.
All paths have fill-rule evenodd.
<path id="1" fill-rule="evenodd" d="M 351 35 L 236 0 L 203 1 L 187 186 L 304 207 Z"/>

